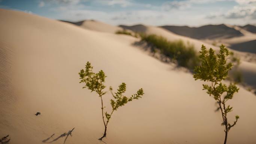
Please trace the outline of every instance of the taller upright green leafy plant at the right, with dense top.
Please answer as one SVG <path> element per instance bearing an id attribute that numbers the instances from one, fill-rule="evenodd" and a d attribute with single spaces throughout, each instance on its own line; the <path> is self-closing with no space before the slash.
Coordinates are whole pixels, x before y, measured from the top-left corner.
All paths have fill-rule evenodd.
<path id="1" fill-rule="evenodd" d="M 229 99 L 233 98 L 235 92 L 238 92 L 237 86 L 235 84 L 230 84 L 226 86 L 222 84 L 222 80 L 225 80 L 228 76 L 228 71 L 232 68 L 232 63 L 227 63 L 227 56 L 229 55 L 228 49 L 224 46 L 220 46 L 220 52 L 215 55 L 215 51 L 210 48 L 207 50 L 204 45 L 202 45 L 201 51 L 199 52 L 199 58 L 202 60 L 201 66 L 195 67 L 195 74 L 193 77 L 195 80 L 204 80 L 210 82 L 210 85 L 202 85 L 203 90 L 207 91 L 207 94 L 213 96 L 217 101 L 218 109 L 222 114 L 222 125 L 225 126 L 225 140 L 224 144 L 227 142 L 228 131 L 235 126 L 239 116 L 235 116 L 235 121 L 233 124 L 228 122 L 227 114 L 232 111 L 230 105 L 226 105 Z"/>

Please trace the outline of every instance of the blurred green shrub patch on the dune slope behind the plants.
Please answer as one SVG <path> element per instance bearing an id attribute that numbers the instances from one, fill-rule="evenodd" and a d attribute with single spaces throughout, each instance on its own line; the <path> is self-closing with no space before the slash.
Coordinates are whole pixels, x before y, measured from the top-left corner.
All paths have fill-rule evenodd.
<path id="1" fill-rule="evenodd" d="M 152 45 L 153 49 L 159 49 L 160 52 L 173 59 L 177 60 L 178 65 L 192 69 L 199 64 L 198 56 L 193 45 L 185 45 L 182 40 L 168 41 L 162 36 L 155 34 L 140 34 L 141 40 Z"/>

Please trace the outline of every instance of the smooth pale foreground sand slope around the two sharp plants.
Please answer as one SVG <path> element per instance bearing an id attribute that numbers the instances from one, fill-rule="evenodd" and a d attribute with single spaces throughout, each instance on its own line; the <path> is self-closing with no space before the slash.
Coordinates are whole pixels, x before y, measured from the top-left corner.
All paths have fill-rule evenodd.
<path id="1" fill-rule="evenodd" d="M 224 127 L 214 99 L 191 73 L 147 55 L 134 37 L 85 30 L 65 22 L 0 9 L 0 136 L 10 144 L 42 144 L 75 128 L 66 144 L 104 144 L 100 99 L 82 89 L 87 61 L 104 70 L 106 85 L 127 83 L 142 99 L 115 111 L 107 144 L 221 144 Z M 110 110 L 109 92 L 103 97 Z M 229 144 L 255 144 L 256 96 L 240 88 L 229 102 Z M 41 115 L 34 114 L 40 111 Z M 51 138 L 51 140 L 53 140 Z M 53 142 L 63 144 L 64 138 Z"/>

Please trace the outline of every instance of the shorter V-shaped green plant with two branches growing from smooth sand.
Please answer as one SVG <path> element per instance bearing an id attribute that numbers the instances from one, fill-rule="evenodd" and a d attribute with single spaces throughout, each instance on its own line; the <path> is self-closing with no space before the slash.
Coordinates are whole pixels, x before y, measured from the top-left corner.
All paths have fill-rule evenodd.
<path id="1" fill-rule="evenodd" d="M 107 92 L 104 91 L 106 86 L 104 85 L 105 78 L 107 77 L 105 73 L 100 70 L 98 73 L 92 72 L 92 66 L 90 62 L 87 62 L 85 65 L 85 70 L 80 70 L 79 76 L 80 76 L 80 83 L 85 83 L 85 86 L 83 88 L 87 88 L 91 90 L 91 92 L 96 92 L 98 96 L 101 99 L 101 111 L 102 111 L 102 119 L 104 123 L 104 134 L 99 140 L 102 140 L 102 138 L 106 137 L 107 135 L 107 125 L 110 121 L 110 118 L 114 111 L 116 111 L 119 107 L 127 104 L 127 102 L 132 101 L 134 99 L 139 99 L 144 94 L 143 89 L 139 89 L 136 94 L 133 94 L 131 97 L 124 96 L 123 94 L 126 91 L 126 84 L 122 83 L 119 85 L 119 88 L 117 89 L 116 93 L 112 92 L 112 87 L 110 87 L 110 92 L 113 95 L 113 99 L 110 100 L 110 104 L 112 106 L 111 113 L 107 113 L 107 111 L 104 113 L 104 107 L 103 107 L 103 100 L 102 96 L 105 95 Z M 105 117 L 104 117 L 105 115 Z"/>

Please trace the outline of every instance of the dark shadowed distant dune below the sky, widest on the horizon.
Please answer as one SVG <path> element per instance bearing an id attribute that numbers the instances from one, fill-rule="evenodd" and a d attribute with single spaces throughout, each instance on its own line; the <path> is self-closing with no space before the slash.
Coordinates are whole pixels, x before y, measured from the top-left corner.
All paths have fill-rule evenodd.
<path id="1" fill-rule="evenodd" d="M 173 33 L 191 37 L 194 39 L 216 39 L 216 38 L 231 38 L 243 36 L 243 34 L 234 28 L 221 25 L 204 25 L 202 27 L 179 27 L 179 26 L 162 26 Z"/>

